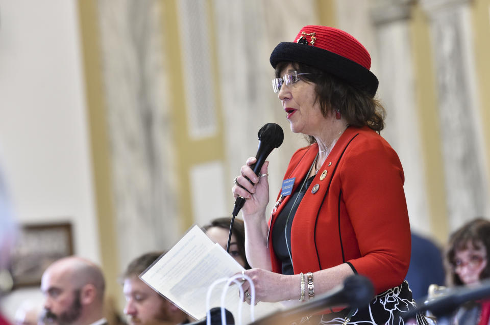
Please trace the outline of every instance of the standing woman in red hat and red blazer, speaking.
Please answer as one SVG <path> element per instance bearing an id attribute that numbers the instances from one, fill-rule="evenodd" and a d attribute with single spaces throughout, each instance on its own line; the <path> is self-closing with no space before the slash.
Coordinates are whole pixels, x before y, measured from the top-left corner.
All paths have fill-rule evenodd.
<path id="1" fill-rule="evenodd" d="M 235 198 L 246 199 L 241 211 L 253 268 L 244 273 L 256 301 L 312 300 L 360 274 L 377 294 L 369 306 L 303 320 L 403 323 L 396 314 L 413 302 L 403 281 L 410 261 L 404 174 L 379 134 L 385 111 L 375 98 L 369 53 L 344 31 L 310 25 L 277 45 L 270 62 L 285 118 L 308 145 L 290 159 L 269 220 L 267 162 L 257 176 L 249 158 L 235 178 Z M 250 301 L 249 284 L 243 288 Z"/>

